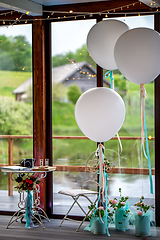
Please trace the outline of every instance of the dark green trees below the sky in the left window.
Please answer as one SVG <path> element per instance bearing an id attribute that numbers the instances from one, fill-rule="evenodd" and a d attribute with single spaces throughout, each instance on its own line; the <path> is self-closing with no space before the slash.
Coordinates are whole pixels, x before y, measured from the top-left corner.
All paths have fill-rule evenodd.
<path id="1" fill-rule="evenodd" d="M 25 36 L 0 36 L 0 70 L 32 70 L 32 48 Z"/>

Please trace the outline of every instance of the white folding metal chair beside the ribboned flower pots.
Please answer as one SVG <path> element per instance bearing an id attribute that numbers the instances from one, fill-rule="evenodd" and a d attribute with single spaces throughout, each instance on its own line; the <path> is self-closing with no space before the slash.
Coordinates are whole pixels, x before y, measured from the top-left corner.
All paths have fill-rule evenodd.
<path id="1" fill-rule="evenodd" d="M 93 156 L 92 159 L 90 159 L 91 156 Z M 95 151 L 95 152 L 90 154 L 90 156 L 88 157 L 88 159 L 86 161 L 85 171 L 84 171 L 84 175 L 83 175 L 82 187 L 80 189 L 60 190 L 58 192 L 59 194 L 69 196 L 73 199 L 73 204 L 70 206 L 68 212 L 64 216 L 64 218 L 61 221 L 59 226 L 62 226 L 64 220 L 66 220 L 66 219 L 73 220 L 71 218 L 68 218 L 68 215 L 69 215 L 70 211 L 72 210 L 72 208 L 74 207 L 75 204 L 77 204 L 79 206 L 79 208 L 82 210 L 82 212 L 85 215 L 85 217 L 81 221 L 81 223 L 80 223 L 79 227 L 76 229 L 76 231 L 79 231 L 80 227 L 82 226 L 82 224 L 84 223 L 86 218 L 89 217 L 89 214 L 90 214 L 91 210 L 89 210 L 86 213 L 86 211 L 81 206 L 79 200 L 80 200 L 80 198 L 85 198 L 85 199 L 88 200 L 89 204 L 96 204 L 96 202 L 98 200 L 98 191 L 92 191 L 92 190 L 85 189 L 85 184 L 88 183 L 88 182 L 94 182 L 98 186 L 97 171 L 98 171 L 98 153 L 97 153 L 97 151 Z M 95 195 L 94 202 L 93 202 L 93 200 L 91 200 L 91 196 L 93 196 L 93 195 Z"/>

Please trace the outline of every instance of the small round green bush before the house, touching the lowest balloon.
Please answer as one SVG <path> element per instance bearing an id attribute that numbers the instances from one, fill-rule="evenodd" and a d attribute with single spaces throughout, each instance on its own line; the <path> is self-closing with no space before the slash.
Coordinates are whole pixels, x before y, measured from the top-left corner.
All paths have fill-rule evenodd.
<path id="1" fill-rule="evenodd" d="M 68 99 L 73 103 L 76 104 L 78 98 L 81 96 L 82 92 L 76 84 L 70 85 L 68 87 Z"/>

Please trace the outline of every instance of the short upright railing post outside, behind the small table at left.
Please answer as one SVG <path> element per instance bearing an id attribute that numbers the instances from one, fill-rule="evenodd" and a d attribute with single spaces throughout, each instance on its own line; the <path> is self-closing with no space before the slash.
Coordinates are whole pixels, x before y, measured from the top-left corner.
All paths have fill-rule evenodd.
<path id="1" fill-rule="evenodd" d="M 13 165 L 13 138 L 8 138 L 8 164 Z M 8 196 L 13 196 L 13 181 L 8 173 Z"/>

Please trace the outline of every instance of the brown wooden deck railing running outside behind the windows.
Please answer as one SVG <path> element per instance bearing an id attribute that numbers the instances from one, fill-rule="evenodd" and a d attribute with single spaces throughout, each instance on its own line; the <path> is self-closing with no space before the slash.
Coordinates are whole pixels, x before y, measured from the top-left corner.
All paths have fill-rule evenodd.
<path id="1" fill-rule="evenodd" d="M 13 164 L 13 139 L 27 138 L 31 139 L 31 135 L 0 135 L 0 138 L 8 139 L 8 164 Z M 88 139 L 85 136 L 53 136 L 53 139 Z M 111 140 L 116 140 L 117 137 L 112 138 Z M 141 140 L 141 137 L 120 137 L 121 140 Z M 88 139 L 89 140 L 89 139 Z M 155 140 L 154 137 L 149 137 L 148 140 Z M 4 164 L 0 164 L 0 167 Z M 56 171 L 66 171 L 66 172 L 84 172 L 85 166 L 62 166 L 56 165 Z M 123 174 L 143 174 L 149 175 L 148 168 L 124 168 L 124 167 L 114 167 L 110 170 L 112 173 L 123 173 Z M 155 169 L 152 169 L 152 174 L 155 175 Z M 13 181 L 11 180 L 10 174 L 8 174 L 8 195 L 13 195 Z"/>

